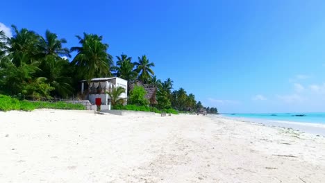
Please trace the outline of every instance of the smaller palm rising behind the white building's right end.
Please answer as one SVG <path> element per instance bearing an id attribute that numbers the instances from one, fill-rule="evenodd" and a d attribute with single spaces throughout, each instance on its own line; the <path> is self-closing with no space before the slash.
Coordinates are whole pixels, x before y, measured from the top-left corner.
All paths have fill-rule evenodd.
<path id="1" fill-rule="evenodd" d="M 121 57 L 117 56 L 116 67 L 114 67 L 116 73 L 115 76 L 124 80 L 133 81 L 137 78 L 138 73 L 133 71 L 134 64 L 131 62 L 132 58 L 125 54 Z"/>

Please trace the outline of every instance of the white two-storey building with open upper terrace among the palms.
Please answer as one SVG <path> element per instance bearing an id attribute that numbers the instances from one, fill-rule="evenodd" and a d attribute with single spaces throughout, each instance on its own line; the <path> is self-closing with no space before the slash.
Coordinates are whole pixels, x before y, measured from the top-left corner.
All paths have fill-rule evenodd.
<path id="1" fill-rule="evenodd" d="M 125 98 L 127 102 L 128 94 L 128 81 L 122 78 L 93 78 L 88 84 L 88 80 L 81 81 L 81 94 L 85 95 L 85 99 L 88 99 L 90 103 L 96 103 L 96 98 L 101 98 L 102 105 L 108 105 L 108 99 L 110 96 L 107 92 L 112 92 L 113 88 L 123 87 L 125 92 L 119 96 Z M 88 90 L 85 91 L 85 88 Z"/>

